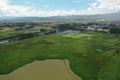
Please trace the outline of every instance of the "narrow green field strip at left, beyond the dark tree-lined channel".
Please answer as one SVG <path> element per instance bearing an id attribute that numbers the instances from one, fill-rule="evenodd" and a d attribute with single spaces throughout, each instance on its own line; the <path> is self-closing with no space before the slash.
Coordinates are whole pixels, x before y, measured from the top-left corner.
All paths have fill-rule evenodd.
<path id="1" fill-rule="evenodd" d="M 48 26 L 34 26 L 33 28 L 30 29 L 25 29 L 24 26 L 24 28 L 22 28 L 21 30 L 15 30 L 15 28 L 5 27 L 3 28 L 3 30 L 0 30 L 0 39 L 5 39 L 5 38 L 19 36 L 28 33 L 35 33 L 35 32 L 39 32 L 40 29 L 45 29 L 47 31 L 52 30 L 52 28 Z"/>

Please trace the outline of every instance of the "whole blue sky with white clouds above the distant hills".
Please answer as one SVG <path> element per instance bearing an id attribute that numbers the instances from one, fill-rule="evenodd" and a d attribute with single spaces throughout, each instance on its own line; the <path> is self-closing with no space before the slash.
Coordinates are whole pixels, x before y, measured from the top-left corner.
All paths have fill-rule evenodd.
<path id="1" fill-rule="evenodd" d="M 93 15 L 120 11 L 120 0 L 0 0 L 0 16 Z"/>

